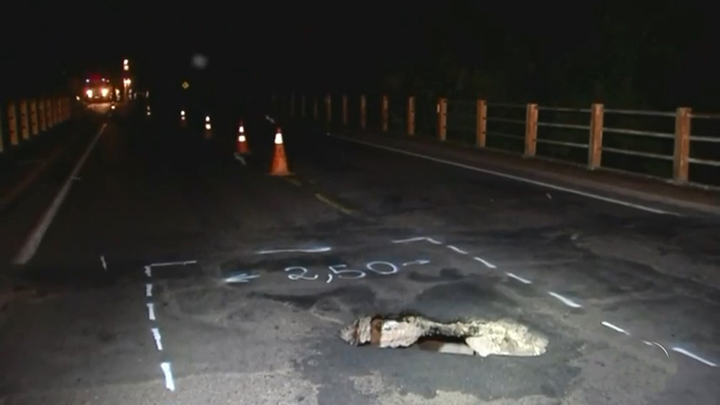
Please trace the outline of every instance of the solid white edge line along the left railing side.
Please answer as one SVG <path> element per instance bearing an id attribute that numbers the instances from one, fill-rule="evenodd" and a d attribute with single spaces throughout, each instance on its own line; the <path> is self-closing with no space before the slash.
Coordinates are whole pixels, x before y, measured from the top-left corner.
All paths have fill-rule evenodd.
<path id="1" fill-rule="evenodd" d="M 100 130 L 98 131 L 97 135 L 95 135 L 95 138 L 90 142 L 90 144 L 85 149 L 85 153 L 82 154 L 80 157 L 80 160 L 77 161 L 75 164 L 75 167 L 73 168 L 72 172 L 70 172 L 70 175 L 65 180 L 65 183 L 63 184 L 60 191 L 57 193 L 55 198 L 53 199 L 52 203 L 50 204 L 50 207 L 45 211 L 42 218 L 40 218 L 40 222 L 35 226 L 35 228 L 30 233 L 30 236 L 27 238 L 25 243 L 23 244 L 22 249 L 18 252 L 18 254 L 13 259 L 13 263 L 15 264 L 26 264 L 30 261 L 30 259 L 35 256 L 35 252 L 37 252 L 38 248 L 40 247 L 40 243 L 42 242 L 43 237 L 45 236 L 45 232 L 47 232 L 48 228 L 50 227 L 50 223 L 52 223 L 53 219 L 55 218 L 55 215 L 57 215 L 58 210 L 60 209 L 60 206 L 62 205 L 63 201 L 65 201 L 65 198 L 67 197 L 68 193 L 70 192 L 70 187 L 73 183 L 73 178 L 77 176 L 77 174 L 82 169 L 83 165 L 85 164 L 85 161 L 87 160 L 88 156 L 90 156 L 90 152 L 92 152 L 93 148 L 95 148 L 95 144 L 97 144 L 98 139 L 100 139 L 100 136 L 105 132 L 105 128 L 107 127 L 107 124 L 103 124 L 102 127 L 100 127 Z"/>

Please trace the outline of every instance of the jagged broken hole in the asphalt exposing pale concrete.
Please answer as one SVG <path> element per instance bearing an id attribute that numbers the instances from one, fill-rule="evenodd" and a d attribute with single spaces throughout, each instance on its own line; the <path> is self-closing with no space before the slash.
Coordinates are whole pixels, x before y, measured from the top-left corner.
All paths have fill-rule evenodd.
<path id="1" fill-rule="evenodd" d="M 358 318 L 340 330 L 340 337 L 354 346 L 417 347 L 482 357 L 539 356 L 548 344 L 544 336 L 509 319 L 441 323 L 414 315 Z"/>

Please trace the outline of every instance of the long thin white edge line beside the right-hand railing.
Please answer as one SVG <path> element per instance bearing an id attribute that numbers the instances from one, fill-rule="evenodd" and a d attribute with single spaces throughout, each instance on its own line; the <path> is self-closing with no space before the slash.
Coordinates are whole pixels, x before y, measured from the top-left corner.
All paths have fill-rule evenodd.
<path id="1" fill-rule="evenodd" d="M 358 143 L 358 144 L 370 146 L 370 147 L 373 147 L 373 148 L 383 149 L 383 150 L 387 150 L 387 151 L 391 151 L 391 152 L 395 152 L 395 153 L 400 153 L 400 154 L 403 154 L 403 155 L 408 155 L 408 156 L 413 156 L 413 157 L 417 157 L 417 158 L 421 158 L 421 159 L 426 159 L 426 160 L 430 160 L 430 161 L 433 161 L 433 162 L 444 163 L 444 164 L 446 164 L 446 165 L 455 166 L 455 167 L 460 167 L 460 168 L 463 168 L 463 169 L 472 170 L 472 171 L 476 171 L 476 172 L 480 172 L 480 173 L 490 174 L 490 175 L 497 176 L 497 177 L 502 177 L 502 178 L 506 178 L 506 179 L 510 179 L 510 180 L 520 181 L 520 182 L 528 183 L 528 184 L 533 184 L 533 185 L 540 186 L 540 187 L 546 187 L 546 188 L 553 189 L 553 190 L 564 191 L 564 192 L 566 192 L 566 193 L 576 194 L 576 195 L 580 195 L 580 196 L 583 196 L 583 197 L 592 198 L 592 199 L 595 199 L 595 200 L 600 200 L 600 201 L 604 201 L 604 202 L 609 202 L 609 203 L 612 203 L 612 204 L 623 205 L 623 206 L 626 206 L 626 207 L 635 208 L 635 209 L 642 210 L 642 211 L 652 212 L 652 213 L 654 213 L 654 214 L 674 215 L 674 216 L 678 216 L 678 217 L 681 217 L 681 216 L 682 216 L 682 215 L 680 215 L 680 214 L 678 214 L 678 213 L 675 213 L 675 212 L 664 211 L 664 210 L 661 210 L 661 209 L 649 207 L 649 206 L 647 206 L 647 205 L 635 204 L 635 203 L 631 203 L 631 202 L 627 202 L 627 201 L 617 200 L 617 199 L 610 198 L 610 197 L 604 197 L 604 196 L 599 195 L 599 194 L 588 193 L 588 192 L 585 192 L 585 191 L 580 191 L 580 190 L 575 190 L 575 189 L 572 189 L 572 188 L 562 187 L 562 186 L 558 186 L 558 185 L 555 185 L 555 184 L 546 183 L 546 182 L 544 182 L 544 181 L 531 180 L 531 179 L 528 179 L 528 178 L 525 178 L 525 177 L 520 177 L 520 176 L 515 176 L 515 175 L 512 175 L 512 174 L 502 173 L 502 172 L 498 172 L 498 171 L 495 171 L 495 170 L 481 169 L 481 168 L 479 168 L 479 167 L 470 166 L 470 165 L 466 165 L 466 164 L 462 164 L 462 163 L 457 163 L 457 162 L 453 162 L 453 161 L 450 161 L 450 160 L 439 159 L 439 158 L 435 158 L 435 157 L 432 157 L 432 156 L 423 155 L 423 154 L 420 154 L 420 153 L 408 152 L 408 151 L 402 150 L 402 149 L 396 149 L 396 148 L 391 148 L 391 147 L 388 147 L 388 146 L 377 145 L 377 144 L 370 143 L 370 142 L 359 141 L 359 140 L 357 140 L 357 139 L 350 139 L 350 138 L 346 138 L 346 137 L 344 137 L 344 136 L 340 136 L 340 135 L 337 135 L 337 134 L 334 135 L 334 136 L 335 136 L 336 138 L 338 138 L 338 139 L 342 139 L 342 140 L 345 140 L 345 141 L 347 141 L 347 142 Z"/>

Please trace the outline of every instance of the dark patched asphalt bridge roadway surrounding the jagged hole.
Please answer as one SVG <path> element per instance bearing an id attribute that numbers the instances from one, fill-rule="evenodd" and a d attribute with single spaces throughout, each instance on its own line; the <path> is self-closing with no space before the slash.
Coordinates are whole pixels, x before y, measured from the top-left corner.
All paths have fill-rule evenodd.
<path id="1" fill-rule="evenodd" d="M 97 118 L 0 219 L 0 404 L 717 404 L 720 228 L 286 126 Z M 204 113 L 202 113 L 204 114 Z M 101 127 L 101 123 L 105 124 Z M 102 128 L 101 132 L 98 132 Z M 27 250 L 26 250 L 27 252 Z M 352 270 L 352 271 L 348 271 Z M 359 316 L 510 318 L 536 357 L 353 347 Z"/>

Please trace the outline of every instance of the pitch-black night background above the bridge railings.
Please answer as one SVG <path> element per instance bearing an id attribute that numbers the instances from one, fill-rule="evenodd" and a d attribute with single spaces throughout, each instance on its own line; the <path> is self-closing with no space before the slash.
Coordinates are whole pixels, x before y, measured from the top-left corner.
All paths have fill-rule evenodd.
<path id="1" fill-rule="evenodd" d="M 4 8 L 3 98 L 89 72 L 160 94 L 433 93 L 717 111 L 710 2 L 118 2 Z M 15 16 L 15 17 L 9 17 Z M 206 69 L 191 66 L 205 55 Z"/>

